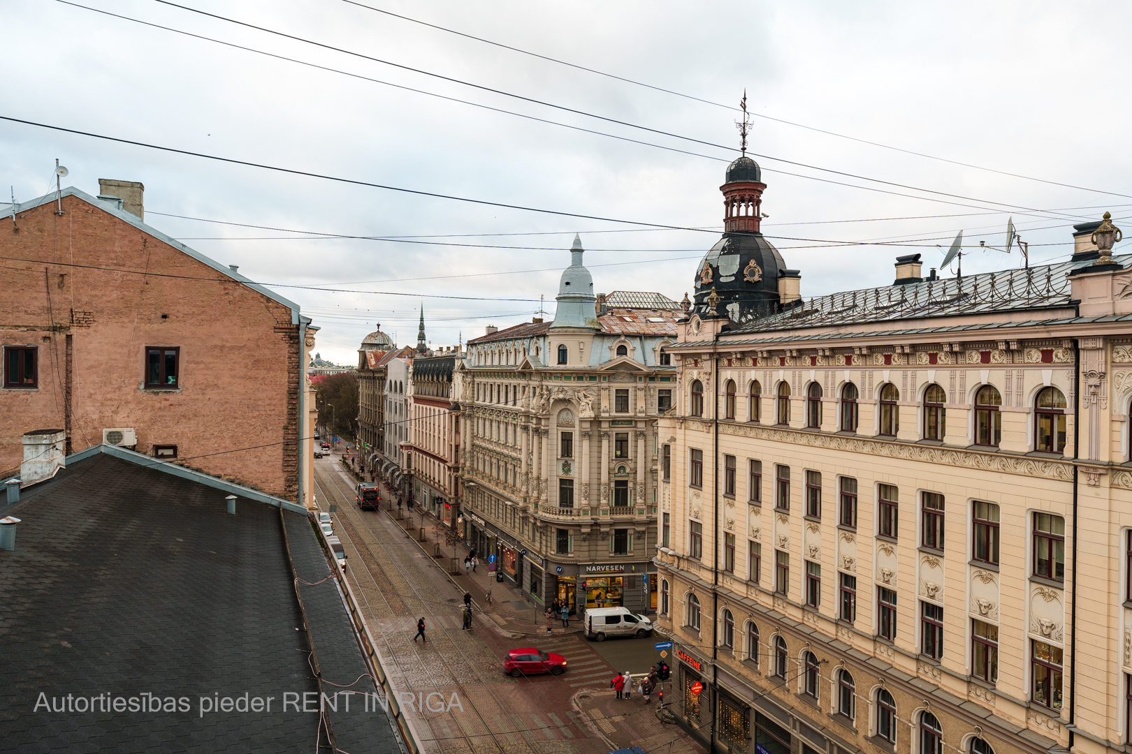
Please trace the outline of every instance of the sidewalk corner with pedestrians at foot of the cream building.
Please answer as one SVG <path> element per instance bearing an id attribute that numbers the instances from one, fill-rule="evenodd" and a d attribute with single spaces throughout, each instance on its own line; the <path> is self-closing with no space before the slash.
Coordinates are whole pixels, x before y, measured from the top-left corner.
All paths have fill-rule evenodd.
<path id="1" fill-rule="evenodd" d="M 609 684 L 606 684 L 607 686 Z M 666 696 L 670 683 L 664 684 Z M 612 690 L 583 691 L 574 696 L 574 705 L 589 718 L 590 727 L 598 731 L 610 749 L 640 746 L 645 752 L 664 754 L 705 754 L 707 747 L 695 740 L 676 722 L 661 722 L 657 717 L 657 694 L 652 702 L 634 692 L 629 701 L 617 699 Z M 671 716 L 666 719 L 671 720 Z"/>

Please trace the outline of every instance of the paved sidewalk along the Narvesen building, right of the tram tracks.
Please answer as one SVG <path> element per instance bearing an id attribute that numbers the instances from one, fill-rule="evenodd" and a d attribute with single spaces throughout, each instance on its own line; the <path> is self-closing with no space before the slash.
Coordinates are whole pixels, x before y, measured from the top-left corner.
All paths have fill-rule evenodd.
<path id="1" fill-rule="evenodd" d="M 381 491 L 384 493 L 381 500 L 381 511 L 389 515 L 389 518 L 401 527 L 402 530 L 409 525 L 410 513 L 402 506 L 403 520 L 397 520 L 397 506 L 394 503 L 391 508 L 386 504 L 386 501 L 394 500 L 393 492 L 388 488 L 384 482 L 378 480 L 381 485 Z M 420 540 L 420 531 L 415 528 L 420 523 L 420 514 L 417 509 L 413 510 L 412 514 L 413 529 L 411 536 L 415 540 Z M 431 555 L 436 546 L 436 537 L 432 534 L 432 526 L 436 523 L 436 519 L 426 513 L 424 514 L 424 534 L 428 541 L 420 543 L 422 549 Z M 409 534 L 409 532 L 406 532 Z M 437 564 L 440 565 L 445 573 L 456 583 L 457 587 L 468 591 L 472 595 L 472 601 L 474 603 L 477 610 L 481 614 L 487 614 L 495 621 L 495 623 L 506 633 L 515 634 L 515 639 L 518 635 L 547 635 L 547 607 L 537 607 L 534 604 L 529 603 L 506 579 L 504 581 L 496 581 L 496 575 L 494 571 L 488 570 L 488 563 L 486 557 L 480 558 L 480 564 L 475 572 L 469 572 L 464 575 L 464 557 L 469 553 L 469 547 L 461 543 L 455 546 L 456 562 L 460 567 L 460 574 L 448 573 L 449 558 L 453 556 L 453 547 L 441 543 L 440 552 L 445 557 L 437 560 Z M 487 592 L 491 591 L 491 605 L 487 604 Z M 551 635 L 555 634 L 566 634 L 566 633 L 581 633 L 582 632 L 582 619 L 580 616 L 572 616 L 569 621 L 569 629 L 561 627 L 561 621 L 555 618 L 554 627 L 551 629 Z"/>

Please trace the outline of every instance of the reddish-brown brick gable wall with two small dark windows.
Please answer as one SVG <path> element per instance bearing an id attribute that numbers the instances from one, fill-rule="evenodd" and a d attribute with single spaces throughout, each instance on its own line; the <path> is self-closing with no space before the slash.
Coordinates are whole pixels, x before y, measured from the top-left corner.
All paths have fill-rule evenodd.
<path id="1" fill-rule="evenodd" d="M 131 427 L 140 452 L 177 445 L 187 466 L 295 499 L 298 306 L 111 203 L 74 189 L 61 215 L 40 201 L 0 229 L 0 341 L 37 371 L 9 387 L 6 350 L 0 468 L 18 467 L 31 430 L 66 427 L 77 452 Z M 153 347 L 178 349 L 175 388 L 146 387 Z"/>

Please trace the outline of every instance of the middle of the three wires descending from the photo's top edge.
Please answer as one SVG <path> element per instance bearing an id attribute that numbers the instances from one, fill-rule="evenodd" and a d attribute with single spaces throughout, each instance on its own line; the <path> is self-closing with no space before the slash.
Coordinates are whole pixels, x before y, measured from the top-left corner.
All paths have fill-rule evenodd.
<path id="1" fill-rule="evenodd" d="M 59 0 L 59 1 L 60 2 L 65 2 L 66 0 Z M 352 57 L 355 57 L 355 58 L 361 58 L 363 60 L 369 60 L 369 61 L 372 61 L 372 62 L 381 63 L 384 66 L 392 66 L 394 68 L 400 68 L 402 70 L 411 71 L 411 72 L 414 72 L 414 73 L 420 73 L 422 76 L 429 76 L 429 77 L 437 78 L 437 79 L 440 79 L 440 80 L 444 80 L 444 81 L 449 81 L 449 83 L 453 83 L 453 84 L 460 84 L 461 86 L 468 86 L 468 87 L 472 87 L 472 88 L 480 89 L 480 90 L 483 90 L 483 92 L 490 92 L 492 94 L 503 95 L 505 97 L 512 97 L 514 99 L 520 99 L 522 102 L 529 102 L 531 104 L 541 105 L 543 107 L 551 107 L 551 109 L 555 109 L 555 110 L 560 110 L 563 112 L 569 112 L 569 113 L 574 113 L 576 115 L 583 115 L 585 118 L 593 118 L 593 119 L 601 120 L 601 121 L 604 121 L 604 122 L 608 122 L 608 123 L 616 123 L 618 125 L 625 125 L 627 128 L 633 128 L 633 129 L 646 131 L 649 133 L 657 133 L 659 136 L 667 136 L 667 137 L 671 137 L 671 138 L 675 138 L 675 139 L 681 139 L 681 140 L 685 140 L 685 141 L 691 141 L 693 144 L 700 144 L 700 145 L 703 145 L 703 146 L 714 147 L 717 149 L 723 149 L 723 150 L 727 150 L 727 151 L 730 151 L 730 153 L 736 151 L 735 147 L 728 147 L 726 145 L 714 144 L 712 141 L 705 141 L 704 139 L 696 139 L 694 137 L 681 136 L 679 133 L 672 133 L 670 131 L 663 131 L 661 129 L 654 129 L 654 128 L 650 128 L 648 125 L 641 125 L 641 124 L 637 124 L 637 123 L 632 123 L 629 121 L 623 121 L 623 120 L 619 120 L 619 119 L 616 119 L 616 118 L 609 118 L 607 115 L 599 115 L 597 113 L 591 113 L 591 112 L 588 112 L 588 111 L 584 111 L 584 110 L 577 110 L 576 107 L 567 107 L 566 105 L 558 105 L 558 104 L 555 104 L 555 103 L 551 103 L 551 102 L 547 102 L 544 99 L 535 99 L 534 97 L 528 97 L 528 96 L 524 96 L 524 95 L 521 95 L 521 94 L 514 94 L 512 92 L 505 92 L 503 89 L 497 89 L 495 87 L 486 86 L 486 85 L 482 85 L 482 84 L 474 84 L 472 81 L 466 81 L 464 79 L 457 79 L 457 78 L 452 77 L 452 76 L 444 76 L 443 73 L 436 73 L 436 72 L 427 71 L 427 70 L 423 70 L 423 69 L 420 69 L 420 68 L 414 68 L 412 66 L 405 66 L 404 63 L 395 63 L 395 62 L 393 62 L 391 60 L 385 60 L 383 58 L 375 58 L 372 55 L 367 55 L 367 54 L 361 53 L 361 52 L 355 52 L 355 51 L 352 51 L 352 50 L 346 50 L 344 47 L 337 47 L 337 46 L 334 46 L 334 45 L 331 45 L 331 44 L 326 44 L 324 42 L 316 42 L 314 40 L 308 40 L 306 37 L 297 36 L 294 34 L 288 34 L 286 32 L 280 32 L 280 31 L 276 31 L 276 29 L 271 29 L 271 28 L 267 28 L 265 26 L 257 26 L 256 24 L 249 24 L 248 21 L 241 21 L 241 20 L 238 20 L 238 19 L 234 19 L 234 18 L 229 18 L 226 16 L 221 16 L 218 14 L 211 14 L 211 12 L 208 12 L 206 10 L 200 10 L 198 8 L 191 8 L 189 6 L 182 6 L 182 5 L 179 5 L 177 2 L 172 2 L 171 0 L 153 0 L 153 2 L 158 2 L 161 5 L 169 6 L 171 8 L 179 8 L 181 10 L 186 10 L 186 11 L 194 12 L 194 14 L 199 14 L 201 16 L 206 16 L 208 18 L 215 18 L 216 20 L 222 20 L 222 21 L 225 21 L 225 23 L 229 23 L 229 24 L 235 24 L 238 26 L 243 26 L 245 28 L 256 29 L 257 32 L 264 32 L 266 34 L 273 34 L 275 36 L 280 36 L 280 37 L 283 37 L 283 38 L 286 38 L 286 40 L 292 40 L 292 41 L 295 41 L 295 42 L 302 42 L 303 44 L 310 44 L 310 45 L 314 45 L 314 46 L 317 46 L 317 47 L 321 47 L 324 50 L 331 50 L 331 51 L 334 51 L 334 52 L 341 52 L 341 53 L 346 54 L 346 55 L 352 55 Z M 75 5 L 75 3 L 68 3 L 68 5 Z M 762 159 L 772 159 L 774 162 L 784 163 L 787 165 L 795 165 L 795 166 L 798 166 L 798 167 L 806 167 L 808 170 L 822 171 L 822 172 L 825 172 L 825 173 L 832 173 L 834 175 L 842 175 L 844 177 L 852 177 L 852 179 L 856 179 L 856 180 L 859 180 L 859 181 L 871 181 L 871 182 L 874 182 L 874 183 L 881 183 L 883 185 L 891 185 L 891 187 L 895 187 L 895 188 L 900 188 L 900 189 L 908 189 L 908 190 L 911 190 L 911 191 L 921 191 L 921 192 L 925 192 L 925 193 L 934 193 L 934 194 L 938 194 L 938 196 L 942 196 L 942 197 L 950 197 L 950 198 L 953 198 L 953 199 L 962 199 L 964 201 L 981 201 L 984 203 L 998 205 L 998 206 L 1002 206 L 1002 207 L 1011 207 L 1013 209 L 1024 209 L 1027 211 L 1036 211 L 1036 213 L 1049 214 L 1049 213 L 1047 213 L 1047 210 L 1039 209 L 1039 208 L 1036 208 L 1036 207 L 1026 207 L 1026 206 L 1022 206 L 1022 205 L 1015 205 L 1015 203 L 1004 202 L 1004 201 L 995 201 L 995 200 L 992 200 L 992 199 L 977 199 L 977 198 L 974 198 L 974 197 L 966 197 L 966 196 L 962 196 L 962 194 L 951 193 L 951 192 L 947 192 L 947 191 L 936 191 L 934 189 L 923 189 L 923 188 L 919 188 L 919 187 L 908 185 L 908 184 L 904 184 L 904 183 L 897 183 L 894 181 L 885 181 L 885 180 L 882 180 L 882 179 L 874 179 L 874 177 L 868 177 L 868 176 L 864 176 L 864 175 L 857 175 L 855 173 L 847 173 L 844 171 L 837 171 L 837 170 L 829 168 L 829 167 L 821 167 L 821 166 L 817 166 L 817 165 L 809 165 L 809 164 L 806 164 L 806 163 L 799 163 L 797 161 L 786 159 L 786 158 L 782 158 L 782 157 L 773 157 L 771 155 L 758 154 L 758 153 L 754 153 L 754 151 L 752 151 L 751 154 L 754 155 L 754 156 L 756 156 L 756 157 L 760 157 Z M 865 188 L 865 187 L 857 187 L 857 188 Z M 1117 196 L 1123 196 L 1123 194 L 1117 194 Z M 1129 194 L 1129 198 L 1132 198 L 1132 194 Z"/>

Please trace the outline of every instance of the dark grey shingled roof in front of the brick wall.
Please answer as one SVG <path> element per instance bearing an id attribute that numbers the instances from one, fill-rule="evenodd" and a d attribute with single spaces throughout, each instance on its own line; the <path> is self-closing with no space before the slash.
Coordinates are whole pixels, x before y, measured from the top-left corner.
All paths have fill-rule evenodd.
<path id="1" fill-rule="evenodd" d="M 334 580 L 302 514 L 105 453 L 71 462 L 3 509 L 22 519 L 0 551 L 0 739 L 20 752 L 309 752 L 318 714 L 285 692 L 367 671 Z M 288 537 L 284 540 L 283 528 Z M 289 552 L 294 562 L 292 573 Z M 297 630 L 299 629 L 299 630 Z M 332 688 L 332 687 L 328 687 Z M 374 693 L 368 678 L 352 688 Z M 54 712 L 74 696 L 188 697 L 190 711 Z M 274 696 L 267 712 L 199 713 L 201 696 Z M 357 709 L 352 705 L 351 709 Z M 344 751 L 397 752 L 387 718 L 329 713 Z"/>

